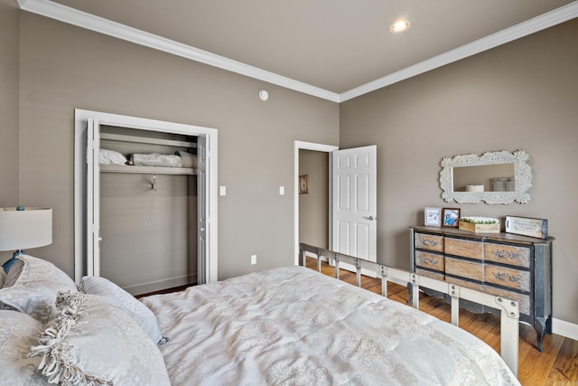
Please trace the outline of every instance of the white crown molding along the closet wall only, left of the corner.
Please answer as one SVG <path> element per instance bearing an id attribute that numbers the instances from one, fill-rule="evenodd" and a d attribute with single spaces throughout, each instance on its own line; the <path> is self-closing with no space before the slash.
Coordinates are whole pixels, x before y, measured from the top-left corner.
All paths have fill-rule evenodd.
<path id="1" fill-rule="evenodd" d="M 79 11 L 66 5 L 53 3 L 46 0 L 18 0 L 18 5 L 24 11 L 33 14 L 40 14 L 62 23 L 76 25 L 97 33 L 104 33 L 127 42 L 134 42 L 154 50 L 168 52 L 191 61 L 199 61 L 221 70 L 236 72 L 256 80 L 263 80 L 285 89 L 293 89 L 312 95 L 313 97 L 339 102 L 340 96 L 335 92 L 327 89 L 321 89 L 298 80 L 293 80 L 274 72 L 265 71 L 254 66 L 233 61 L 223 56 L 211 52 L 203 51 L 181 42 L 175 42 L 171 39 L 153 33 L 147 33 L 125 24 L 119 24 L 105 18 Z"/>

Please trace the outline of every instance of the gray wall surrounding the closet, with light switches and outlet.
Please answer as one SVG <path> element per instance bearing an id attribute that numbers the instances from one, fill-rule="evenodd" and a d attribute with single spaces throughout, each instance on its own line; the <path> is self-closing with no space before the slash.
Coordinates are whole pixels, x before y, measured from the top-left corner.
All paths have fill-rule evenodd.
<path id="1" fill-rule="evenodd" d="M 219 197 L 219 278 L 294 263 L 294 140 L 336 145 L 336 103 L 20 17 L 20 198 L 54 209 L 53 243 L 33 255 L 73 275 L 73 118 L 83 108 L 218 128 L 218 184 L 227 186 Z M 269 92 L 265 102 L 260 89 Z M 279 186 L 288 193 L 279 195 Z"/>

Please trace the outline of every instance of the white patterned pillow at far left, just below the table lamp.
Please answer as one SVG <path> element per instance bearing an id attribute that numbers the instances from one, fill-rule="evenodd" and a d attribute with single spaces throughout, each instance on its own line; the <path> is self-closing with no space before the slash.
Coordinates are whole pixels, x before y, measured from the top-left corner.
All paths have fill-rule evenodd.
<path id="1" fill-rule="evenodd" d="M 3 308 L 33 316 L 47 323 L 55 312 L 54 299 L 59 291 L 76 291 L 74 281 L 49 261 L 20 255 L 8 271 L 5 286 L 0 289 L 0 303 Z"/>

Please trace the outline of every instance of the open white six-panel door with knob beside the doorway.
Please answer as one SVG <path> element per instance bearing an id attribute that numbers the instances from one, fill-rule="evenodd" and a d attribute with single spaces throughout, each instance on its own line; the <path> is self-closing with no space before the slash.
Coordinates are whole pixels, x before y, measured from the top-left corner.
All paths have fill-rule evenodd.
<path id="1" fill-rule="evenodd" d="M 371 261 L 378 243 L 376 163 L 377 146 L 331 153 L 331 249 Z"/>

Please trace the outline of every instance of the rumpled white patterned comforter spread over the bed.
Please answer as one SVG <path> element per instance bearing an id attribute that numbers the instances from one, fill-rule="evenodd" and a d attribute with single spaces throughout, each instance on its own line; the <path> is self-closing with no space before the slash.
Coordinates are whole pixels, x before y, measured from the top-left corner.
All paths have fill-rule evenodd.
<path id="1" fill-rule="evenodd" d="M 175 386 L 519 384 L 475 336 L 309 268 L 142 300 Z"/>

